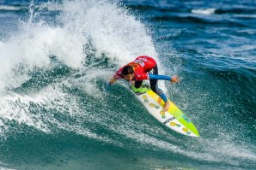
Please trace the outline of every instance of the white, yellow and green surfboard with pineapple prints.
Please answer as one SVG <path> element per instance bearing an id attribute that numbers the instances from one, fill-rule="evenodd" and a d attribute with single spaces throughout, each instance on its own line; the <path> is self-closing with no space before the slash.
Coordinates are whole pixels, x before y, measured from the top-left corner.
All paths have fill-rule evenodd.
<path id="1" fill-rule="evenodd" d="M 199 137 L 198 130 L 192 124 L 192 121 L 174 103 L 170 101 L 171 106 L 168 111 L 162 111 L 164 101 L 149 88 L 149 85 L 143 84 L 140 88 L 131 85 L 130 89 L 137 99 L 143 103 L 149 114 L 153 115 L 164 126 L 186 136 Z"/>

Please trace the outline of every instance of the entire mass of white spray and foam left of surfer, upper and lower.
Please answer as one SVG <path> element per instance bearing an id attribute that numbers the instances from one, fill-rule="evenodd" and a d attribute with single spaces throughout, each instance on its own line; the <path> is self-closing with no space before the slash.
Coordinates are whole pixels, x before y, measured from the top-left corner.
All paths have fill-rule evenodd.
<path id="1" fill-rule="evenodd" d="M 109 66 L 115 66 L 115 69 L 144 54 L 155 56 L 158 60 L 145 26 L 117 3 L 64 1 L 54 26 L 52 22 L 47 23 L 48 19 L 39 19 L 43 7 L 46 5 L 35 5 L 32 1 L 27 23 L 21 22 L 19 32 L 0 44 L 0 65 L 3 69 L 0 73 L 2 134 L 15 131 L 9 129 L 10 121 L 15 121 L 17 126 L 32 126 L 42 132 L 52 132 L 55 126 L 68 131 L 72 129 L 74 125 L 56 120 L 49 113 L 52 113 L 52 108 L 60 114 L 69 113 L 67 116 L 82 113 L 78 112 L 76 97 L 66 94 L 66 88 L 73 89 L 78 85 L 89 96 L 101 97 L 92 93 L 101 88 L 94 80 L 107 81 L 106 78 L 113 74 L 108 66 L 99 67 L 95 63 L 103 57 L 107 57 L 111 61 Z M 97 72 L 100 74 L 96 75 Z M 79 82 L 75 79 L 76 75 L 82 76 Z M 57 77 L 50 80 L 52 76 Z M 73 102 L 68 103 L 70 100 Z M 63 101 L 59 107 L 58 101 Z M 70 104 L 73 109 L 65 111 L 62 108 Z M 40 111 L 42 108 L 48 114 Z M 81 131 L 85 131 L 82 126 Z M 76 129 L 76 132 L 79 131 Z M 97 137 L 89 133 L 86 136 Z"/>

